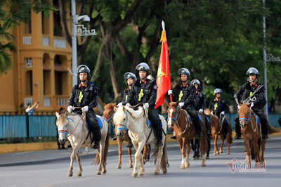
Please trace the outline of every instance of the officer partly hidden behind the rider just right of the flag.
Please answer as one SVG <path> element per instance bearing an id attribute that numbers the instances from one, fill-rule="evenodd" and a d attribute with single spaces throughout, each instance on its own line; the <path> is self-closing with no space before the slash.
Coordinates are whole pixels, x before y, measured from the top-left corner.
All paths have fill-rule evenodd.
<path id="1" fill-rule="evenodd" d="M 204 110 L 207 108 L 205 95 L 202 93 L 202 87 L 200 86 L 200 81 L 198 79 L 193 79 L 190 84 L 195 86 L 195 110 L 202 113 L 205 117 L 205 126 L 207 128 L 207 135 L 211 135 L 211 126 L 209 123 L 209 119 L 206 114 L 204 114 Z"/>

